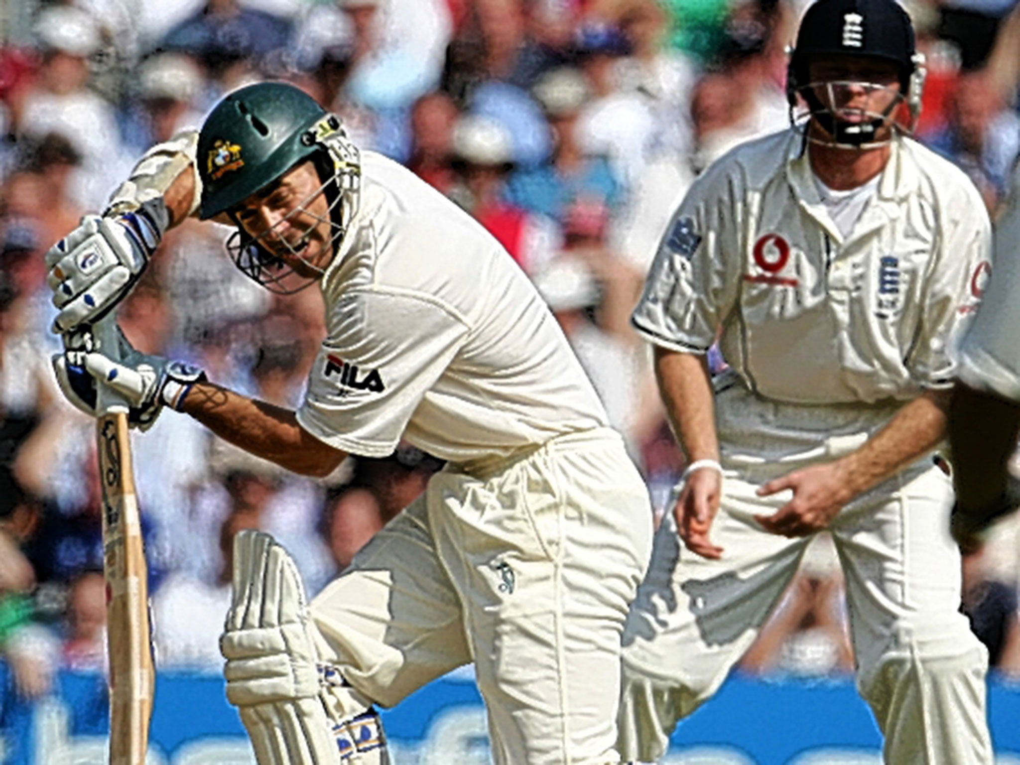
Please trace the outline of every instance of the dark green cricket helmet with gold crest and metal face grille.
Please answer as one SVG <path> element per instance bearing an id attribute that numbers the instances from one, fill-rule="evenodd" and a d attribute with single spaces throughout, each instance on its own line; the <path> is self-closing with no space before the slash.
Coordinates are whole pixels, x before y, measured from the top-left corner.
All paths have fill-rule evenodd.
<path id="1" fill-rule="evenodd" d="M 315 196 L 324 193 L 328 202 L 336 253 L 357 209 L 361 177 L 358 151 L 337 115 L 293 85 L 256 83 L 226 95 L 199 134 L 199 215 L 204 220 L 225 213 L 234 219 L 238 231 L 227 242 L 231 257 L 246 275 L 273 292 L 297 292 L 315 278 L 295 287 L 292 269 L 261 241 L 265 233 L 258 239 L 249 235 L 234 211 L 308 160 L 322 182 Z M 292 214 L 301 209 L 299 205 Z"/>

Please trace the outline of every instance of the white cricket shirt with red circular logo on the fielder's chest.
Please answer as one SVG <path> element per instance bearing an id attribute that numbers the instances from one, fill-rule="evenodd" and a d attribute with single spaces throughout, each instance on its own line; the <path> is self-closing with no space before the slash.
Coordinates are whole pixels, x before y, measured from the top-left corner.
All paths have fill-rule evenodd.
<path id="1" fill-rule="evenodd" d="M 705 353 L 721 326 L 748 388 L 804 404 L 915 398 L 951 385 L 959 333 L 989 267 L 970 181 L 909 139 L 846 238 L 783 131 L 709 167 L 674 213 L 633 324 Z"/>

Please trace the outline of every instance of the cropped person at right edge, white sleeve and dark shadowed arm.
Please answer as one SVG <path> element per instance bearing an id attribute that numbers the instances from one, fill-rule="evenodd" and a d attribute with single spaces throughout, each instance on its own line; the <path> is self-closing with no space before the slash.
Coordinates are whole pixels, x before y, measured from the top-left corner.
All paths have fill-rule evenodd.
<path id="1" fill-rule="evenodd" d="M 965 550 L 980 546 L 998 518 L 1020 506 L 1020 486 L 1007 463 L 1020 431 L 1020 164 L 1006 209 L 996 220 L 996 277 L 960 349 L 950 406 L 957 503 L 953 536 Z"/>

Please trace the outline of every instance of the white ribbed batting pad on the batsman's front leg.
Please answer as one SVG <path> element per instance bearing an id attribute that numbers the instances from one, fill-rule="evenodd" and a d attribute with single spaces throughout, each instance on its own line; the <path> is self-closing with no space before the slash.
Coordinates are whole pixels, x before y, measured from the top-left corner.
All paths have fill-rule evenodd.
<path id="1" fill-rule="evenodd" d="M 226 698 L 259 765 L 387 765 L 374 710 L 343 720 L 327 714 L 314 629 L 291 556 L 269 534 L 238 533 L 234 598 L 219 645 Z"/>

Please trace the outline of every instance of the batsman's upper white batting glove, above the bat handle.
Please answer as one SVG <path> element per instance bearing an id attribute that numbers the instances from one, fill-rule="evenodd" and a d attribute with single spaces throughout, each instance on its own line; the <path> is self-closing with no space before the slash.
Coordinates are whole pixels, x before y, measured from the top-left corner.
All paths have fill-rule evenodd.
<path id="1" fill-rule="evenodd" d="M 131 292 L 169 224 L 162 199 L 119 215 L 86 215 L 46 253 L 53 304 L 60 309 L 53 332 L 92 324 Z"/>

